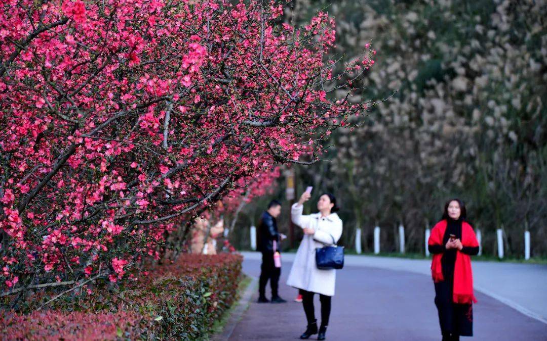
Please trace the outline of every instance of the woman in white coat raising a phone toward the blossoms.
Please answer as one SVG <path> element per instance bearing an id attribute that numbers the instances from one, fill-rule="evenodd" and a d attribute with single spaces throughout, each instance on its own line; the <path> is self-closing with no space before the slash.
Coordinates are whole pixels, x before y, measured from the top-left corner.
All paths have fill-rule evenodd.
<path id="1" fill-rule="evenodd" d="M 310 192 L 311 190 L 304 192 L 291 210 L 293 223 L 302 228 L 304 238 L 302 238 L 296 252 L 287 285 L 300 289 L 302 294 L 307 328 L 300 338 L 307 339 L 318 333 L 317 339 L 324 340 L 329 324 L 330 301 L 334 296 L 336 270 L 319 270 L 316 266 L 315 253 L 316 248 L 336 244 L 342 235 L 342 220 L 338 214 L 334 213 L 338 211 L 338 207 L 336 207 L 336 198 L 330 194 L 323 194 L 319 198 L 317 202 L 319 213 L 303 216 L 303 205 L 310 199 Z M 319 294 L 319 301 L 321 301 L 321 327 L 319 329 L 313 307 L 315 294 Z"/>

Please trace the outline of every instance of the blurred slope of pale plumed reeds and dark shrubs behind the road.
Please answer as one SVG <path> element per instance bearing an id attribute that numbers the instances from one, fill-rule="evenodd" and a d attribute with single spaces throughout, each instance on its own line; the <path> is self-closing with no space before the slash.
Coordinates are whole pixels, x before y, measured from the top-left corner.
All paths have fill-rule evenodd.
<path id="1" fill-rule="evenodd" d="M 376 225 L 382 250 L 395 251 L 402 223 L 407 249 L 423 252 L 426 226 L 458 196 L 484 253 L 494 254 L 502 228 L 506 254 L 523 254 L 528 229 L 532 255 L 546 255 L 545 1 L 299 0 L 286 20 L 322 8 L 336 20 L 337 55 L 351 59 L 374 39 L 379 68 L 359 95 L 398 92 L 362 127 L 333 135 L 330 163 L 299 167 L 297 194 L 306 184 L 334 192 L 344 242 L 353 246 L 361 228 L 365 251 Z"/>

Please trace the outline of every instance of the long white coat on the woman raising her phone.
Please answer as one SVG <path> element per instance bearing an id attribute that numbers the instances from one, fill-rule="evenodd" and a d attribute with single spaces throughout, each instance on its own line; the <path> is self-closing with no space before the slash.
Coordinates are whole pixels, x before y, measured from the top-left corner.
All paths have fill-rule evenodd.
<path id="1" fill-rule="evenodd" d="M 336 213 L 331 213 L 327 217 L 321 217 L 321 213 L 302 216 L 302 210 L 304 206 L 299 205 L 298 202 L 293 205 L 290 212 L 293 223 L 302 229 L 314 229 L 315 234 L 304 235 L 296 252 L 293 267 L 290 269 L 287 285 L 334 296 L 336 270 L 319 270 L 315 262 L 315 249 L 335 244 L 340 239 L 342 220 Z"/>

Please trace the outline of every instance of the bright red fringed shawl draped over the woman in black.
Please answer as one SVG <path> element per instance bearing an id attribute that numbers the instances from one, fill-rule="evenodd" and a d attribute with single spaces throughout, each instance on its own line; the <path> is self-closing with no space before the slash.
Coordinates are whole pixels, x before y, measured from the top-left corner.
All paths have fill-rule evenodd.
<path id="1" fill-rule="evenodd" d="M 441 220 L 433 227 L 428 245 L 443 245 L 446 225 L 446 220 Z M 466 222 L 462 222 L 462 244 L 464 247 L 479 246 L 479 242 L 475 237 L 473 228 Z M 441 266 L 442 257 L 442 253 L 433 255 L 431 274 L 435 283 L 442 282 L 444 280 L 443 267 Z M 459 250 L 456 252 L 456 264 L 454 265 L 452 301 L 460 304 L 469 304 L 477 301 L 475 295 L 473 294 L 473 271 L 471 270 L 471 257 L 460 252 Z"/>

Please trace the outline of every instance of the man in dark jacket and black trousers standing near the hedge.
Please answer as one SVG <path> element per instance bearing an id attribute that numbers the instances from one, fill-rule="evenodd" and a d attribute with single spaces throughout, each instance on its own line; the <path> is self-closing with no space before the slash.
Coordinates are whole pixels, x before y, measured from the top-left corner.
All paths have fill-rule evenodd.
<path id="1" fill-rule="evenodd" d="M 266 284 L 270 280 L 272 288 L 272 303 L 287 302 L 279 297 L 277 288 L 281 268 L 274 264 L 274 241 L 277 244 L 277 250 L 283 236 L 277 231 L 276 219 L 281 214 L 281 204 L 277 200 L 272 200 L 268 204 L 268 209 L 260 218 L 258 227 L 258 250 L 262 253 L 262 266 L 260 268 L 259 298 L 258 303 L 270 302 L 266 298 Z"/>

